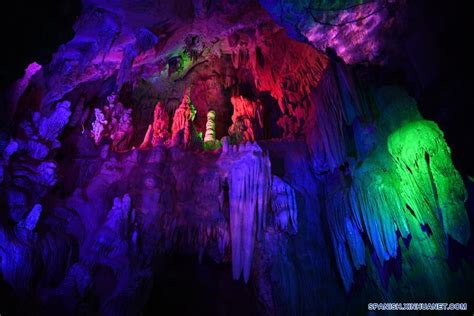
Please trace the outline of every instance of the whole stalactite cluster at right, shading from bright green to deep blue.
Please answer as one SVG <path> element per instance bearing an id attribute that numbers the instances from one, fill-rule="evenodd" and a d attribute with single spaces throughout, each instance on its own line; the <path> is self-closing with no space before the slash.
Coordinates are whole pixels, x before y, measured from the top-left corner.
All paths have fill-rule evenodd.
<path id="1" fill-rule="evenodd" d="M 447 257 L 447 234 L 462 244 L 469 239 L 466 191 L 437 125 L 406 123 L 387 142 L 388 150 L 380 144 L 354 167 L 351 180 L 335 173 L 328 182 L 328 223 L 347 291 L 353 267 L 365 264 L 363 233 L 381 264 L 397 256 L 397 231 L 411 235 L 420 260 Z"/>

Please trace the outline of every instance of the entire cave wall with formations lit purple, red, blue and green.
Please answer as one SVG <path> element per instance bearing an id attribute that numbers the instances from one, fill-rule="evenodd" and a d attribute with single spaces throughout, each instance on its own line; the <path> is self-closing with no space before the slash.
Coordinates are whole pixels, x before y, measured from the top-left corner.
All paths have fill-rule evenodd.
<path id="1" fill-rule="evenodd" d="M 286 4 L 83 3 L 6 93 L 5 305 L 153 311 L 182 257 L 258 314 L 472 301 L 470 183 L 417 101 L 360 64 L 388 62 L 403 3 L 310 9 L 340 27 Z"/>

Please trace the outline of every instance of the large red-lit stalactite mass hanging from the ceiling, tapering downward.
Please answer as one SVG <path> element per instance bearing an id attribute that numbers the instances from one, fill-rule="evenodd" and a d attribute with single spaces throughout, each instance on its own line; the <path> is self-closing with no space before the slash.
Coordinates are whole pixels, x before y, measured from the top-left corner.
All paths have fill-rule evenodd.
<path id="1" fill-rule="evenodd" d="M 311 107 L 309 97 L 319 85 L 328 65 L 327 57 L 306 44 L 286 39 L 281 31 L 249 47 L 254 56 L 265 58 L 263 64 L 262 58 L 260 62 L 258 58 L 251 59 L 255 85 L 260 91 L 269 91 L 278 101 L 283 117 L 288 118 L 278 122 L 283 134 L 294 136 L 302 132 Z"/>

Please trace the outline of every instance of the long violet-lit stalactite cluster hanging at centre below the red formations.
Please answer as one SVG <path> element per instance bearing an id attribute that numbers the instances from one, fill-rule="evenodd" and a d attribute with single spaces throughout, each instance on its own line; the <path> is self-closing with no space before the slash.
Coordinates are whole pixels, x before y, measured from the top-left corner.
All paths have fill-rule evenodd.
<path id="1" fill-rule="evenodd" d="M 247 282 L 255 240 L 266 226 L 270 160 L 256 143 L 229 147 L 226 138 L 220 160 L 228 172 L 232 274 L 234 279 L 243 274 Z"/>

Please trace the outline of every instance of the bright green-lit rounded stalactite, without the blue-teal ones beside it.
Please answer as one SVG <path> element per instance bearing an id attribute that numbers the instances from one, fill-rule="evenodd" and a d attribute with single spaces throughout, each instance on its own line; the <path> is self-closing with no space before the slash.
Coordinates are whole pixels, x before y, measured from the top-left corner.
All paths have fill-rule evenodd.
<path id="1" fill-rule="evenodd" d="M 464 183 L 451 161 L 451 152 L 436 123 L 413 121 L 392 133 L 388 149 L 400 177 L 401 196 L 435 237 L 437 227 L 466 244 L 470 229 Z"/>

